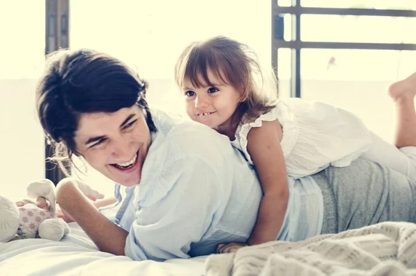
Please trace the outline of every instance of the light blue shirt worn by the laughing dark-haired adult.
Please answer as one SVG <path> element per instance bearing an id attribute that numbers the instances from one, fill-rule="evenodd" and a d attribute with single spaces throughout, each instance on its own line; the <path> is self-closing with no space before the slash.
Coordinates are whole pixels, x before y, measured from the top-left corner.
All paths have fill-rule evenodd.
<path id="1" fill-rule="evenodd" d="M 140 184 L 126 188 L 123 198 L 116 184 L 119 204 L 113 221 L 129 231 L 125 255 L 163 261 L 209 255 L 218 243 L 247 241 L 262 196 L 253 167 L 211 128 L 159 110 L 152 115 L 157 132 Z M 289 183 L 278 239 L 320 234 L 318 185 L 312 178 L 289 178 Z"/>

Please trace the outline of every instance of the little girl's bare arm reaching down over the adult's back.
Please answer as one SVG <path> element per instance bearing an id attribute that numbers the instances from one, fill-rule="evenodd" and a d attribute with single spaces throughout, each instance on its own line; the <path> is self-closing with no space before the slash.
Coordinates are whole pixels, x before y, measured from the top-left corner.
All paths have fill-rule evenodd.
<path id="1" fill-rule="evenodd" d="M 264 195 L 248 245 L 275 241 L 284 221 L 289 190 L 281 137 L 283 131 L 277 120 L 263 121 L 261 128 L 252 128 L 248 133 L 248 153 Z"/>

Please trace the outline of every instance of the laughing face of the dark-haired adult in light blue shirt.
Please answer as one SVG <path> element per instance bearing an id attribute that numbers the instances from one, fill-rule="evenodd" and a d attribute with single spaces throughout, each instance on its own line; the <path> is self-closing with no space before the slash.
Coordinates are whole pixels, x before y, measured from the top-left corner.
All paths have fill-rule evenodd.
<path id="1" fill-rule="evenodd" d="M 126 187 L 139 184 L 151 138 L 137 105 L 82 114 L 74 140 L 78 153 L 107 178 Z"/>

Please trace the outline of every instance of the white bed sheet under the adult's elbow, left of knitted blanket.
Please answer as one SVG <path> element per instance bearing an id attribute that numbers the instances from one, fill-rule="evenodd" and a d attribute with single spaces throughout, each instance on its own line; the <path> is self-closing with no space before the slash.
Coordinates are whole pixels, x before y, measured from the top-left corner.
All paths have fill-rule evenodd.
<path id="1" fill-rule="evenodd" d="M 62 241 L 24 239 L 0 244 L 0 275 L 204 275 L 205 259 L 132 261 L 100 252 L 76 223 Z"/>

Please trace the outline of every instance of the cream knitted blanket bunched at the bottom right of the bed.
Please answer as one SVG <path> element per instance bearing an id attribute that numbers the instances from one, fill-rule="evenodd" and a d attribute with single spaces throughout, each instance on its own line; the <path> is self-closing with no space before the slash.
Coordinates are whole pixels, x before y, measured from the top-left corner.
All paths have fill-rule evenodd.
<path id="1" fill-rule="evenodd" d="M 385 222 L 306 241 L 272 241 L 211 255 L 207 276 L 416 275 L 416 224 Z"/>

